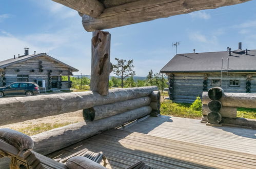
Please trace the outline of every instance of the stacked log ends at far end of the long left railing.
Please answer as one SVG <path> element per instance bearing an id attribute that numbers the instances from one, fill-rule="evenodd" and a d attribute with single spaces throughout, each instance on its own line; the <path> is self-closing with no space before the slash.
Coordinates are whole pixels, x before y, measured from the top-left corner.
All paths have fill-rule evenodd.
<path id="1" fill-rule="evenodd" d="M 160 107 L 161 107 L 161 94 L 160 91 L 153 91 L 150 95 L 151 103 L 150 107 L 152 108 L 152 112 L 150 116 L 159 117 L 160 116 Z"/>

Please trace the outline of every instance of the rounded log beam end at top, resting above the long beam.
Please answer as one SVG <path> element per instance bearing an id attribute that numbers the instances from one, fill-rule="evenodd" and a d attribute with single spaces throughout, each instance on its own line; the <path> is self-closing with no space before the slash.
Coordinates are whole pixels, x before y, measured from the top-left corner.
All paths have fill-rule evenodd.
<path id="1" fill-rule="evenodd" d="M 98 17 L 105 9 L 103 4 L 97 0 L 52 0 L 65 5 L 83 14 Z"/>

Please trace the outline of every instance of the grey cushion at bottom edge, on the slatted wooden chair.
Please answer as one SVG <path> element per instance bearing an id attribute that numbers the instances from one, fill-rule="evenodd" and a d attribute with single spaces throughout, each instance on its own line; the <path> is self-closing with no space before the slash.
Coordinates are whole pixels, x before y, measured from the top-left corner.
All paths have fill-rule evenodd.
<path id="1" fill-rule="evenodd" d="M 101 164 L 98 164 L 89 158 L 77 156 L 70 158 L 66 165 L 69 169 L 102 169 L 105 168 Z M 105 168 L 106 169 L 106 168 Z"/>

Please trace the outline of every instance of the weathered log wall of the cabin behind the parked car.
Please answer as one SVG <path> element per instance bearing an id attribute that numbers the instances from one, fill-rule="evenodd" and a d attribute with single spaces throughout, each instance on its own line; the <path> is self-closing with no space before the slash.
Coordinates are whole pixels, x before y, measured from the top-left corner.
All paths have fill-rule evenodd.
<path id="1" fill-rule="evenodd" d="M 40 64 L 40 61 L 42 61 L 42 64 Z M 40 65 L 43 66 L 43 72 L 40 72 Z M 31 70 L 34 70 L 34 72 L 32 72 Z M 72 75 L 72 70 L 44 56 L 38 56 L 23 62 L 19 62 L 17 64 L 7 66 L 6 69 L 2 71 L 6 73 L 6 86 L 12 82 L 16 82 L 17 75 L 29 75 L 29 82 L 35 82 L 36 79 L 45 80 L 46 88 L 48 89 L 48 74 L 50 70 L 52 71 L 51 76 L 61 77 Z M 0 87 L 3 87 L 1 79 Z M 67 89 L 68 84 L 63 86 L 63 88 Z"/>

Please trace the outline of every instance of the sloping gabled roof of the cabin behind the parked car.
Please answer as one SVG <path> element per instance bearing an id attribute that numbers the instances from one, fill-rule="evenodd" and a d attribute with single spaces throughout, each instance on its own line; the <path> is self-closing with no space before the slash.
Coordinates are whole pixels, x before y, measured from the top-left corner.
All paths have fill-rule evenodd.
<path id="1" fill-rule="evenodd" d="M 48 57 L 56 62 L 58 62 L 59 64 L 62 64 L 66 67 L 68 67 L 69 69 L 71 69 L 73 72 L 78 72 L 77 69 L 67 65 L 67 64 L 64 64 L 64 62 L 60 61 L 60 60 L 57 60 L 49 55 L 47 55 L 46 53 L 38 53 L 38 54 L 33 54 L 33 55 L 27 55 L 27 56 L 22 56 L 22 57 L 15 57 L 14 58 L 11 58 L 11 59 L 7 59 L 7 60 L 4 60 L 4 61 L 0 61 L 0 68 L 5 68 L 7 66 L 10 66 L 10 65 L 13 65 L 13 64 L 17 64 L 18 62 L 22 62 L 22 61 L 26 61 L 28 59 L 31 59 L 31 58 L 34 58 L 34 57 L 38 57 L 38 56 L 45 56 L 45 57 Z"/>

